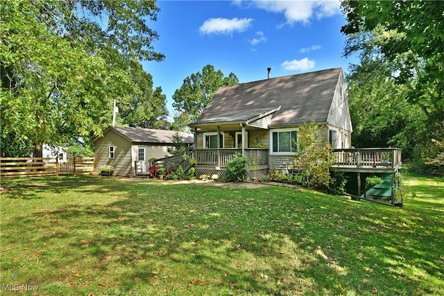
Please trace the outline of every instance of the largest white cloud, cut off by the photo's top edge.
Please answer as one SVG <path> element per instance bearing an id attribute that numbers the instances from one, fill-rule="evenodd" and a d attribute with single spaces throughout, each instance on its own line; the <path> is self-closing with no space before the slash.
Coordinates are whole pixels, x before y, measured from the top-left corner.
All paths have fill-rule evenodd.
<path id="1" fill-rule="evenodd" d="M 311 19 L 316 17 L 322 19 L 331 17 L 332 15 L 341 14 L 341 1 L 339 0 L 323 0 L 323 1 L 280 1 L 280 0 L 257 0 L 245 1 L 248 6 L 275 12 L 284 13 L 287 24 L 293 25 L 296 22 L 307 24 Z M 234 1 L 238 6 L 242 1 Z"/>

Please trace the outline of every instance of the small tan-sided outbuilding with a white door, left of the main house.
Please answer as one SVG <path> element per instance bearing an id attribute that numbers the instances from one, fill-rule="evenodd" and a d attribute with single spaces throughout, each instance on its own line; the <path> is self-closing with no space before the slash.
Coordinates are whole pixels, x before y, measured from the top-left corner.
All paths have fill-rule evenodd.
<path id="1" fill-rule="evenodd" d="M 135 175 L 136 163 L 142 171 L 149 168 L 150 159 L 159 159 L 169 155 L 167 148 L 174 143 L 175 134 L 187 146 L 193 143 L 192 134 L 171 130 L 148 128 L 109 127 L 94 143 L 95 170 L 104 165 L 114 166 L 114 175 Z"/>

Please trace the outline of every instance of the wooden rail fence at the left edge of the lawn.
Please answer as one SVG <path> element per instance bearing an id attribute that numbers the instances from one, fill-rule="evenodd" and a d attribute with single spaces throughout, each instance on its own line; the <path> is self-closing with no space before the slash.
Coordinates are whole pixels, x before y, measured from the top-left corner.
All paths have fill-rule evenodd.
<path id="1" fill-rule="evenodd" d="M 74 157 L 60 162 L 58 157 L 0 157 L 1 177 L 35 177 L 94 171 L 94 157 Z"/>

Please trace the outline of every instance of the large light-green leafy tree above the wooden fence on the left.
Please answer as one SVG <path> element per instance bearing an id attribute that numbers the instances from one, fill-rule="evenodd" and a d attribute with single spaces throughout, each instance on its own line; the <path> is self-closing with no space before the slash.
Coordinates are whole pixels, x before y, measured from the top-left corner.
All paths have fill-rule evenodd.
<path id="1" fill-rule="evenodd" d="M 3 1 L 2 152 L 19 156 L 22 150 L 9 147 L 18 142 L 39 157 L 43 143 L 101 134 L 113 99 L 133 94 L 131 76 L 141 73 L 135 64 L 164 58 L 146 26 L 157 11 L 154 1 Z"/>

